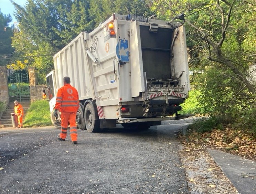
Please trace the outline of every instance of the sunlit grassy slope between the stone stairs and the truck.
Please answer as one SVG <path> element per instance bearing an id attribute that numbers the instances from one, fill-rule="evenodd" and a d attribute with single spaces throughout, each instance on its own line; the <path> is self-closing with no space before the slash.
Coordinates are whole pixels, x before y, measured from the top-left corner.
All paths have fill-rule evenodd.
<path id="1" fill-rule="evenodd" d="M 49 102 L 35 101 L 31 104 L 24 121 L 24 127 L 51 126 Z"/>

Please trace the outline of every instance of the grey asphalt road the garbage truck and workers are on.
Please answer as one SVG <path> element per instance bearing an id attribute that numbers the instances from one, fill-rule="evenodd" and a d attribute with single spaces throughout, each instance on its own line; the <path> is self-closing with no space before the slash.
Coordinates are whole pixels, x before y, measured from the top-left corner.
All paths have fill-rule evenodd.
<path id="1" fill-rule="evenodd" d="M 77 145 L 54 127 L 0 130 L 0 193 L 190 193 L 175 133 L 187 122 L 78 130 Z"/>

